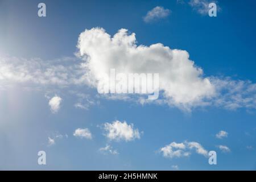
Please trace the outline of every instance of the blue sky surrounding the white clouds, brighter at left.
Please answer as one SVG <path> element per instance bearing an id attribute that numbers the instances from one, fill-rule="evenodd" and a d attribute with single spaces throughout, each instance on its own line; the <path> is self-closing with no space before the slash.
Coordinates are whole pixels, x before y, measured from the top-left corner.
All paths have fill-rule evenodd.
<path id="1" fill-rule="evenodd" d="M 217 17 L 199 13 L 201 7 L 189 1 L 44 1 L 47 16 L 39 18 L 40 2 L 0 1 L 0 169 L 256 169 L 255 1 L 219 1 Z M 168 13 L 145 22 L 148 11 L 157 6 Z M 128 35 L 136 34 L 137 46 L 162 43 L 171 50 L 187 51 L 185 63 L 192 60 L 192 71 L 203 70 L 200 78 L 210 80 L 216 95 L 204 100 L 207 90 L 196 102 L 192 98 L 171 102 L 178 92 L 160 96 L 167 104 L 141 105 L 136 96 L 117 100 L 99 96 L 97 88 L 85 82 L 75 84 L 71 77 L 88 72 L 77 68 L 87 63 L 81 58 L 84 54 L 76 56 L 81 53 L 79 36 L 85 29 L 94 35 L 91 28 L 96 27 L 110 36 L 126 28 Z M 105 40 L 95 47 L 88 46 L 86 38 L 81 44 L 92 55 L 108 51 L 108 47 L 96 50 Z M 116 53 L 111 54 L 113 59 Z M 154 56 L 161 59 L 163 55 Z M 172 72 L 162 64 L 163 72 Z M 96 70 L 104 66 L 99 64 Z M 52 75 L 47 75 L 48 68 Z M 163 72 L 158 71 L 161 76 Z M 51 80 L 55 76 L 60 79 Z M 189 82 L 179 83 L 188 89 L 186 96 L 204 90 L 190 88 Z M 54 97 L 61 99 L 55 102 L 57 109 L 49 105 Z M 132 130 L 132 136 L 109 138 L 106 123 L 114 127 L 116 121 L 121 122 L 119 127 L 126 121 L 125 129 Z M 88 129 L 91 137 L 74 135 L 79 128 Z M 217 138 L 220 131 L 227 134 Z M 173 151 L 168 150 L 164 156 L 161 148 L 172 142 L 184 144 L 190 155 L 181 151 L 180 156 L 171 156 Z M 217 165 L 209 165 L 208 156 L 189 148 L 189 142 L 197 142 L 204 151 L 216 151 Z M 46 166 L 37 163 L 40 150 L 46 151 Z"/>

